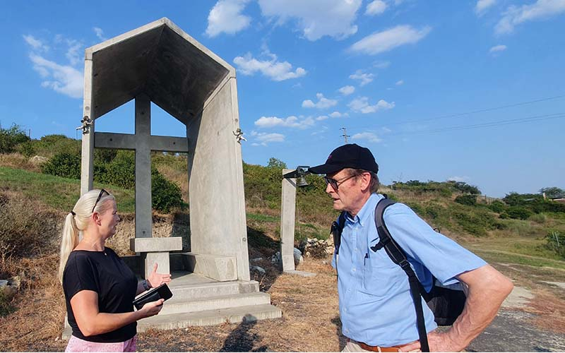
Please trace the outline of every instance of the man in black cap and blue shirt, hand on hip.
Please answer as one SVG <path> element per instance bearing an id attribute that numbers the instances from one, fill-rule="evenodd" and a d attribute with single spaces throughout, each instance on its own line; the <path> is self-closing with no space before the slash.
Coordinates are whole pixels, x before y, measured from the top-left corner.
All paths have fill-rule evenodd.
<path id="1" fill-rule="evenodd" d="M 338 273 L 342 332 L 347 337 L 343 352 L 417 352 L 420 342 L 408 276 L 384 249 L 370 249 L 379 242 L 375 208 L 384 198 L 377 193 L 379 165 L 371 151 L 356 144 L 342 145 L 326 163 L 309 172 L 326 174 L 326 193 L 333 199 L 333 208 L 346 212 L 339 255 L 334 254 L 332 261 Z M 464 349 L 496 316 L 512 282 L 434 232 L 402 203 L 386 208 L 383 220 L 426 290 L 434 277 L 442 285 L 461 282 L 467 289 L 463 312 L 446 332 L 436 330 L 434 314 L 422 301 L 429 349 Z"/>

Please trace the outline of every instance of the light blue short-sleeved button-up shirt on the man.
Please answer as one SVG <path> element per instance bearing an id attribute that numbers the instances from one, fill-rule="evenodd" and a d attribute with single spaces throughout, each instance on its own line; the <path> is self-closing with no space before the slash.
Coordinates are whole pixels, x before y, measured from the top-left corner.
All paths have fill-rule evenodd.
<path id="1" fill-rule="evenodd" d="M 379 242 L 374 211 L 382 198 L 372 194 L 354 218 L 345 217 L 337 261 L 338 294 L 343 335 L 367 345 L 392 347 L 418 340 L 418 332 L 408 276 L 385 249 L 369 249 Z M 407 205 L 395 203 L 386 208 L 384 222 L 426 290 L 432 287 L 432 273 L 441 284 L 451 285 L 458 282 L 457 275 L 486 265 L 463 246 L 434 232 Z M 334 255 L 334 268 L 335 260 Z M 437 327 L 434 314 L 424 299 L 422 308 L 430 332 Z"/>

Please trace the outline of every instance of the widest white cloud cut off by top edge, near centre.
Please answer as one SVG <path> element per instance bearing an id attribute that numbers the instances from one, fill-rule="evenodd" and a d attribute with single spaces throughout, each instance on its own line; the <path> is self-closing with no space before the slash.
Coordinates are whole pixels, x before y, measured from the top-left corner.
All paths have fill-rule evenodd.
<path id="1" fill-rule="evenodd" d="M 328 35 L 337 39 L 357 32 L 354 25 L 362 0 L 258 0 L 263 16 L 278 18 L 278 24 L 290 18 L 307 40 Z"/>

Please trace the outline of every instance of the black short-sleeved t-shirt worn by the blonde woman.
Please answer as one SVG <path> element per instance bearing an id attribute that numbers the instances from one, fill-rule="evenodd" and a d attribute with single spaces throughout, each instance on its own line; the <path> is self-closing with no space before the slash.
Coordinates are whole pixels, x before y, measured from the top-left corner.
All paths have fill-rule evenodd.
<path id="1" fill-rule="evenodd" d="M 71 298 L 81 290 L 98 293 L 100 313 L 129 313 L 133 311 L 137 278 L 112 249 L 104 251 L 75 250 L 71 252 L 63 273 L 63 290 L 66 311 L 73 336 L 90 342 L 124 342 L 136 335 L 137 323 L 122 328 L 85 337 L 76 324 Z"/>

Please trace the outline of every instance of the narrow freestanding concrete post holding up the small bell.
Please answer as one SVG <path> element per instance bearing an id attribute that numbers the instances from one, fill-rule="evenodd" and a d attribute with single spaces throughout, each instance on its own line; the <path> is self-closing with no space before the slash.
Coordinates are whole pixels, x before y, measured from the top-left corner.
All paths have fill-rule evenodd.
<path id="1" fill-rule="evenodd" d="M 294 169 L 283 169 L 283 174 Z M 295 270 L 295 210 L 296 179 L 283 178 L 283 191 L 280 205 L 280 258 L 283 260 L 283 271 Z"/>

